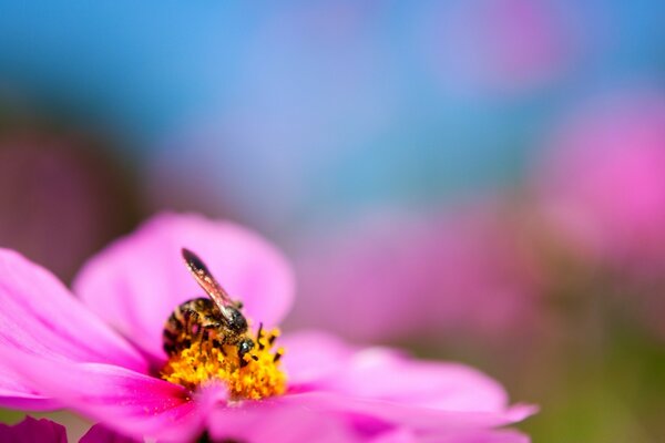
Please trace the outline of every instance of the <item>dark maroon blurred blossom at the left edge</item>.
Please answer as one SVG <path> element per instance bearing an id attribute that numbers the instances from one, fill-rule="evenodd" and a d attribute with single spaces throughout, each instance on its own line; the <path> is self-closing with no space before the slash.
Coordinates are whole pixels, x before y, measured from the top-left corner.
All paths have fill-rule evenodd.
<path id="1" fill-rule="evenodd" d="M 99 144 L 81 134 L 0 136 L 0 245 L 69 281 L 130 225 L 135 197 Z"/>

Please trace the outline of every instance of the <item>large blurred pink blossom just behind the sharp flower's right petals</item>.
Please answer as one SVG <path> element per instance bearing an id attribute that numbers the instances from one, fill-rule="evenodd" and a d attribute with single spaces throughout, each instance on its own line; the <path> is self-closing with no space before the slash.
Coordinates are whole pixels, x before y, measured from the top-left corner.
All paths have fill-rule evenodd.
<path id="1" fill-rule="evenodd" d="M 495 205 L 446 214 L 377 213 L 296 254 L 301 297 L 291 321 L 368 340 L 521 334 L 540 276 Z"/>

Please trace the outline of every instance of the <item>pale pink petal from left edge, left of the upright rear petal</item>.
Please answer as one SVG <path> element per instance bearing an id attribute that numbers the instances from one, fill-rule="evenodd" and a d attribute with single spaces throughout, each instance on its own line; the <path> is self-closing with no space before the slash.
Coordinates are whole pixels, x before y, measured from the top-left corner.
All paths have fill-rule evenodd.
<path id="1" fill-rule="evenodd" d="M 0 249 L 0 343 L 10 349 L 146 370 L 139 352 L 55 277 L 8 249 Z M 18 380 L 16 371 L 0 360 L 0 403 L 30 409 L 55 405 Z"/>

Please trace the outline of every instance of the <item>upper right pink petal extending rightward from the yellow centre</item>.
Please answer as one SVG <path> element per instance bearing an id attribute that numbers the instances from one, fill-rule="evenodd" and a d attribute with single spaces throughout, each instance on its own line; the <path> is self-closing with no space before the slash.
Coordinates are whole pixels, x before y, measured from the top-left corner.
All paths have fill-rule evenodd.
<path id="1" fill-rule="evenodd" d="M 289 385 L 440 409 L 501 410 L 503 388 L 469 367 L 408 359 L 385 348 L 359 349 L 323 332 L 282 339 Z M 405 374 L 408 374 L 406 377 Z"/>

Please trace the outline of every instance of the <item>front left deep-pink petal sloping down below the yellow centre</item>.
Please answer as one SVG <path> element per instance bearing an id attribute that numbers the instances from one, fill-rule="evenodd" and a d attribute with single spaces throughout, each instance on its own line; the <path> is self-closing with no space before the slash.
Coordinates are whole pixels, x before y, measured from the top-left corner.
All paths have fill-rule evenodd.
<path id="1" fill-rule="evenodd" d="M 102 363 L 44 359 L 0 347 L 0 359 L 37 392 L 123 434 L 187 441 L 200 433 L 219 400 L 132 370 Z"/>

